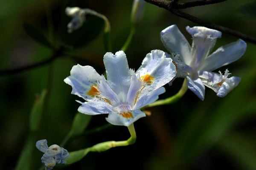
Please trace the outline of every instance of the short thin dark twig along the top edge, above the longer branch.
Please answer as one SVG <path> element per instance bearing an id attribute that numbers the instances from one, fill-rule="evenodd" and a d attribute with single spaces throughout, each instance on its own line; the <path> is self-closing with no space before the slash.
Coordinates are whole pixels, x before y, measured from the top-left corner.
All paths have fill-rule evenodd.
<path id="1" fill-rule="evenodd" d="M 190 8 L 195 6 L 204 6 L 204 5 L 214 4 L 214 3 L 221 3 L 223 1 L 226 1 L 226 0 L 198 0 L 198 1 L 187 2 L 187 3 L 177 3 L 177 4 L 173 4 L 173 6 L 177 9 L 185 9 L 185 8 Z"/>

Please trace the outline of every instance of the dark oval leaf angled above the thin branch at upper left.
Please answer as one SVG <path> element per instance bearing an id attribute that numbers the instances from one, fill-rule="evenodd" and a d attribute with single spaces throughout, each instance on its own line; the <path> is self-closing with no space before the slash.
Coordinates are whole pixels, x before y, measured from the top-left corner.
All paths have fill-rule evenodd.
<path id="1" fill-rule="evenodd" d="M 40 42 L 42 45 L 45 45 L 49 48 L 53 48 L 49 40 L 44 36 L 43 33 L 38 31 L 37 28 L 28 23 L 24 23 L 23 28 L 25 29 L 26 33 L 29 34 L 29 36 L 32 37 L 35 41 Z"/>

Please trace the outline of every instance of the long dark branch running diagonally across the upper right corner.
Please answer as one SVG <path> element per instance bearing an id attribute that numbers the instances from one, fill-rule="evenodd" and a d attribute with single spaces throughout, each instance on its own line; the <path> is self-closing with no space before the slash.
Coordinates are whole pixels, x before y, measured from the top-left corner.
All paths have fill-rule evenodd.
<path id="1" fill-rule="evenodd" d="M 201 20 L 201 19 L 199 19 L 197 17 L 194 17 L 192 15 L 186 14 L 186 13 L 184 13 L 182 11 L 179 11 L 178 9 L 175 9 L 172 6 L 172 3 L 170 1 L 166 1 L 166 0 L 145 0 L 145 1 L 148 2 L 148 3 L 151 3 L 153 5 L 159 6 L 161 8 L 165 8 L 168 11 L 172 12 L 172 14 L 175 14 L 178 17 L 182 17 L 182 18 L 184 18 L 186 20 L 189 20 L 189 21 L 192 21 L 194 23 L 197 23 L 197 24 L 199 24 L 201 26 L 205 26 L 207 28 L 212 28 L 212 29 L 221 31 L 223 33 L 226 33 L 226 34 L 229 34 L 229 35 L 233 35 L 233 36 L 239 37 L 239 38 L 241 38 L 243 40 L 246 40 L 248 42 L 256 44 L 256 38 L 250 37 L 250 36 L 248 36 L 246 34 L 243 34 L 243 33 L 239 32 L 239 31 L 235 31 L 235 30 L 232 30 L 232 29 L 224 27 L 224 26 L 219 26 L 219 25 L 216 25 L 216 24 L 213 24 L 213 23 L 206 22 L 206 21 Z"/>

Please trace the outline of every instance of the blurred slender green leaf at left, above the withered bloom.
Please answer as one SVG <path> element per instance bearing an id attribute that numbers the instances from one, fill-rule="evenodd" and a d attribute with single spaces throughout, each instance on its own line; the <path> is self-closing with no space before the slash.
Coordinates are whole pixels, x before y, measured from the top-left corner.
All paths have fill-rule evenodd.
<path id="1" fill-rule="evenodd" d="M 36 96 L 35 103 L 30 113 L 30 130 L 37 131 L 43 113 L 44 99 L 47 91 L 43 90 L 40 96 Z"/>

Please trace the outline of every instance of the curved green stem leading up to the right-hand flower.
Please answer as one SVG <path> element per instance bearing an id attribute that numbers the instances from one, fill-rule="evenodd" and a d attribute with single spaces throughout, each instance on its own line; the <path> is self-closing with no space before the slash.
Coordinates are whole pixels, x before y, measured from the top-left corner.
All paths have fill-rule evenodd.
<path id="1" fill-rule="evenodd" d="M 180 91 L 178 91 L 177 94 L 175 94 L 174 96 L 171 96 L 167 99 L 157 100 L 156 102 L 143 107 L 143 109 L 154 107 L 154 106 L 159 106 L 159 105 L 169 105 L 169 104 L 175 103 L 186 93 L 187 89 L 188 89 L 187 79 L 184 79 L 184 82 L 180 88 Z"/>

